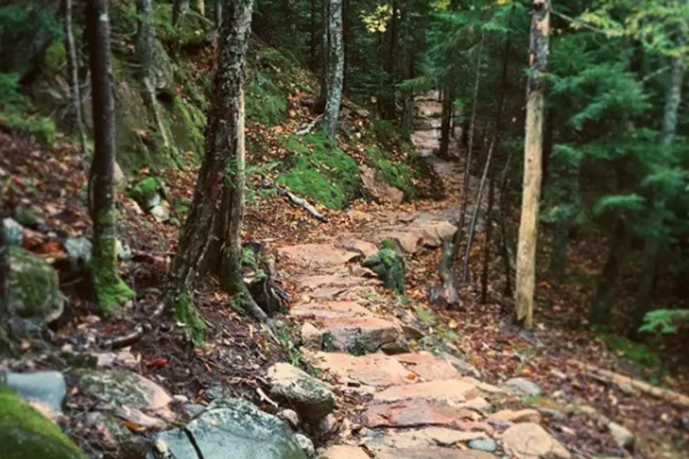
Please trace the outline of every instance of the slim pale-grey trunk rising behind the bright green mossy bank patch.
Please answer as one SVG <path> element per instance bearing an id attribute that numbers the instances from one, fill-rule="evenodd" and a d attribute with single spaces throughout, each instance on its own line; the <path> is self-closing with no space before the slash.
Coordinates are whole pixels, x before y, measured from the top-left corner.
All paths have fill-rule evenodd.
<path id="1" fill-rule="evenodd" d="M 342 46 L 342 0 L 327 0 L 328 4 L 328 63 L 326 67 L 326 112 L 323 127 L 328 138 L 335 138 L 337 120 L 342 103 L 342 80 L 345 71 L 345 49 Z"/>

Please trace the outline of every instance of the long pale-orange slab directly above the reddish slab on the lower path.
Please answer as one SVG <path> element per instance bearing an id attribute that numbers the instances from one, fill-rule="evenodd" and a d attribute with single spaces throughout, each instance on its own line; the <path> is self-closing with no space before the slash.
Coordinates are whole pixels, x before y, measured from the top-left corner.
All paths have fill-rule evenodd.
<path id="1" fill-rule="evenodd" d="M 388 387 L 373 396 L 378 401 L 425 399 L 461 403 L 475 399 L 481 392 L 475 384 L 464 380 L 419 382 L 413 385 Z"/>

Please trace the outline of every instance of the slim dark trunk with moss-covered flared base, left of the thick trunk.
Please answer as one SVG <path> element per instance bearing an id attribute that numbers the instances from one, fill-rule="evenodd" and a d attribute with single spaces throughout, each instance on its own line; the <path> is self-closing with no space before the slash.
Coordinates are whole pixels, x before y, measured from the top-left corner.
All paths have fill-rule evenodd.
<path id="1" fill-rule="evenodd" d="M 98 303 L 105 311 L 134 297 L 120 279 L 117 266 L 117 211 L 115 210 L 115 99 L 110 72 L 108 0 L 86 3 L 91 90 L 94 112 L 94 160 L 89 174 L 94 247 L 91 273 Z"/>

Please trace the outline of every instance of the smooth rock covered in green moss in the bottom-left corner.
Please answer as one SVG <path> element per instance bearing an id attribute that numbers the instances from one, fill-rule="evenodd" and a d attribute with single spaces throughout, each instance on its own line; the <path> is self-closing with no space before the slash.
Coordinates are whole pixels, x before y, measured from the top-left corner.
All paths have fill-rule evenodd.
<path id="1" fill-rule="evenodd" d="M 51 420 L 0 384 L 0 444 L 3 459 L 86 459 Z"/>

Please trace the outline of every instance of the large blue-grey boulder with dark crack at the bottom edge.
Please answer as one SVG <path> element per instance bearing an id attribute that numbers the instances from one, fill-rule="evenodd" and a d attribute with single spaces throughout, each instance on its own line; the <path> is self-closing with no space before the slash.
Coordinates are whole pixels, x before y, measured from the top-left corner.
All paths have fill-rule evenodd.
<path id="1" fill-rule="evenodd" d="M 240 399 L 214 400 L 186 427 L 153 440 L 174 459 L 307 459 L 283 420 Z"/>

